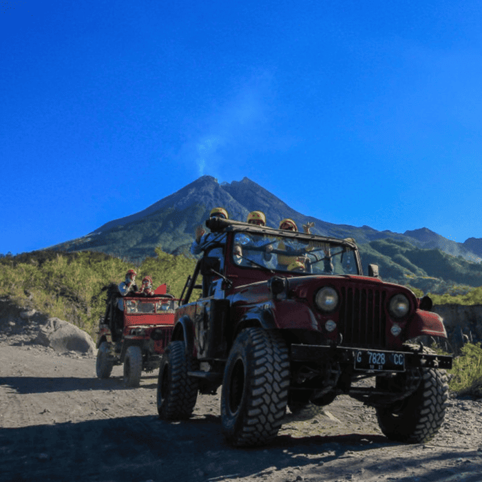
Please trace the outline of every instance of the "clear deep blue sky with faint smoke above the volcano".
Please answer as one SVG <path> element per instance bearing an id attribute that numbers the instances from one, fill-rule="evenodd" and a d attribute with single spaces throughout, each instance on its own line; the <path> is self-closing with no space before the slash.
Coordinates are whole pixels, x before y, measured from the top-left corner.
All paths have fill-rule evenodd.
<path id="1" fill-rule="evenodd" d="M 196 178 L 482 238 L 480 1 L 0 0 L 0 253 Z"/>

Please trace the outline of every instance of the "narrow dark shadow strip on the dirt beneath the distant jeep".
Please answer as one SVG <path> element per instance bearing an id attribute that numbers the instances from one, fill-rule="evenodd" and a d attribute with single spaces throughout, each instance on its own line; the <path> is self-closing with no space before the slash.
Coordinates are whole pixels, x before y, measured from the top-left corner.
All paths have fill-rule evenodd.
<path id="1" fill-rule="evenodd" d="M 143 377 L 142 388 L 156 388 L 157 377 Z M 17 393 L 70 392 L 76 390 L 132 390 L 124 384 L 123 377 L 108 379 L 78 377 L 0 377 L 0 386 L 10 387 Z"/>

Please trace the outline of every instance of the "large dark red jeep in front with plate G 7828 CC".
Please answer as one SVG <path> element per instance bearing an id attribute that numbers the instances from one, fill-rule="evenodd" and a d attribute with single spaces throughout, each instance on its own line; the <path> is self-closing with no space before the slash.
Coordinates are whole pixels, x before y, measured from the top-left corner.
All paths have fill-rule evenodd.
<path id="1" fill-rule="evenodd" d="M 350 238 L 220 218 L 206 225 L 212 244 L 188 278 L 159 368 L 161 419 L 190 417 L 198 391 L 222 385 L 222 432 L 233 446 L 268 443 L 286 407 L 296 413 L 337 395 L 373 406 L 389 439 L 434 437 L 452 357 L 419 342 L 447 338 L 430 298 L 383 282 L 376 265 L 364 276 Z"/>

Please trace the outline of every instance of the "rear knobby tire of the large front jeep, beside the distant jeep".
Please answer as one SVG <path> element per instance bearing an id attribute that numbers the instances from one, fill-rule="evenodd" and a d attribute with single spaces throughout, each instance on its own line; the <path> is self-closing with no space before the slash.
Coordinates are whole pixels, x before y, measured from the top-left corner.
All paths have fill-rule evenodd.
<path id="1" fill-rule="evenodd" d="M 167 346 L 159 367 L 157 410 L 160 419 L 189 419 L 198 397 L 198 381 L 188 377 L 195 370 L 196 361 L 186 355 L 184 342 Z"/>

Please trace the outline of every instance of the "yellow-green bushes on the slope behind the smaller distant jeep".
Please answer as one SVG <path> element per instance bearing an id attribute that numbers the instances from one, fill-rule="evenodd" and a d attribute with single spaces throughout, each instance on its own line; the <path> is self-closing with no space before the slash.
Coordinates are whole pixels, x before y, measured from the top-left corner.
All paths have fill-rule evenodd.
<path id="1" fill-rule="evenodd" d="M 134 266 L 103 253 L 83 251 L 32 251 L 0 258 L 0 295 L 48 316 L 65 319 L 87 331 L 94 339 L 98 320 L 105 312 L 103 286 L 123 281 L 128 269 L 153 277 L 154 286 L 167 284 L 167 293 L 178 297 L 196 260 L 171 255 L 156 248 L 156 256 Z"/>

